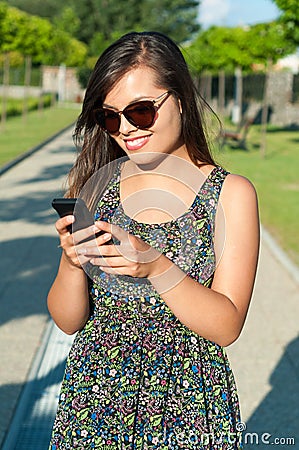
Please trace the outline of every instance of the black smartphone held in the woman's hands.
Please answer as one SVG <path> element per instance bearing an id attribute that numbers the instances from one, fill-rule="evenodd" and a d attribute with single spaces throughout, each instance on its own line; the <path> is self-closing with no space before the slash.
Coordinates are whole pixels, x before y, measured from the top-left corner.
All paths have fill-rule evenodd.
<path id="1" fill-rule="evenodd" d="M 81 198 L 54 198 L 52 206 L 60 217 L 75 216 L 75 222 L 68 226 L 70 233 L 94 224 L 93 216 Z"/>

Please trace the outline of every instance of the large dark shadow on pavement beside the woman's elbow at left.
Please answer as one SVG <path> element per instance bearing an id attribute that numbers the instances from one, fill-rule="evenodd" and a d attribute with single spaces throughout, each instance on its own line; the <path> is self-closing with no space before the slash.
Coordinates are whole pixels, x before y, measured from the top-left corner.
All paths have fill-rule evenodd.
<path id="1" fill-rule="evenodd" d="M 0 243 L 0 267 L 4 274 L 0 284 L 0 325 L 26 316 L 48 315 L 47 292 L 61 253 L 57 244 L 58 239 L 50 236 Z"/>

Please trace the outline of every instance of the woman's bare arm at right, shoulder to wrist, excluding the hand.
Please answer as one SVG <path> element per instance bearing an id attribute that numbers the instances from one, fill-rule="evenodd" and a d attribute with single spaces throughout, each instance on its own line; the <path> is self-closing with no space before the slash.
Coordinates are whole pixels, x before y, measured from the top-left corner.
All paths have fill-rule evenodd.
<path id="1" fill-rule="evenodd" d="M 228 175 L 220 200 L 225 239 L 211 289 L 186 276 L 161 296 L 184 325 L 227 346 L 242 330 L 252 295 L 259 252 L 259 217 L 255 189 L 243 177 Z M 217 233 L 223 233 L 223 226 L 216 223 L 215 238 L 221 241 L 222 236 Z M 168 284 L 178 279 L 178 271 L 177 267 L 169 269 Z M 150 280 L 158 291 L 163 290 L 165 279 L 157 276 Z"/>

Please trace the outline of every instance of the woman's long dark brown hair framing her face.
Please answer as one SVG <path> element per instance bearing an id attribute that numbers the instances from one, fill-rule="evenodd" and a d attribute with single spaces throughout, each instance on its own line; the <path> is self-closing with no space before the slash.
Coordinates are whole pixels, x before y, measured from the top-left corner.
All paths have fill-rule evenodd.
<path id="1" fill-rule="evenodd" d="M 95 123 L 92 112 L 115 84 L 138 66 L 152 69 L 157 85 L 180 100 L 182 137 L 192 162 L 215 164 L 205 133 L 204 111 L 209 107 L 197 92 L 180 49 L 164 34 L 131 32 L 102 53 L 89 79 L 74 133 L 75 143 L 81 143 L 82 150 L 69 174 L 69 196 L 76 197 L 101 167 L 125 156 L 114 139 Z"/>

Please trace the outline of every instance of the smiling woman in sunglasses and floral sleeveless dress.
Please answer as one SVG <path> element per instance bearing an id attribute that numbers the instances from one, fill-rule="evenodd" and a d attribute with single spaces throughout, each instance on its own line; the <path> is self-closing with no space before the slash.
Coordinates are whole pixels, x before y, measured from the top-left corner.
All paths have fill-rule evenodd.
<path id="1" fill-rule="evenodd" d="M 95 66 L 68 191 L 94 208 L 95 225 L 71 235 L 74 216 L 57 221 L 63 252 L 48 296 L 56 324 L 78 332 L 53 450 L 242 447 L 223 347 L 252 294 L 257 200 L 214 162 L 204 108 L 162 34 L 129 33 Z"/>

